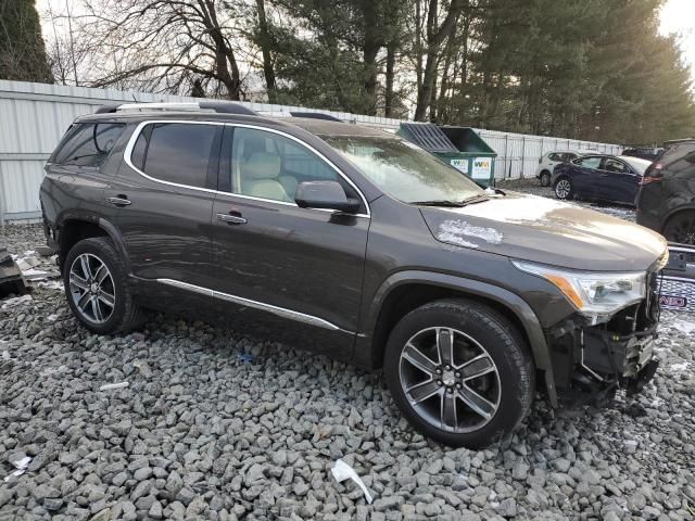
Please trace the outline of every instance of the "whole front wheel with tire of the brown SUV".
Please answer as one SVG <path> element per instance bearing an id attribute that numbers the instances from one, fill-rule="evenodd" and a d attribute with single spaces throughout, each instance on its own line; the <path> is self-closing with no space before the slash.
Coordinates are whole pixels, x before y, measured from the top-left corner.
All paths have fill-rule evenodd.
<path id="1" fill-rule="evenodd" d="M 453 365 L 439 345 L 453 345 Z M 463 298 L 435 301 L 402 318 L 387 343 L 384 373 L 410 424 L 452 447 L 482 448 L 513 432 L 535 392 L 521 334 L 494 309 Z"/>

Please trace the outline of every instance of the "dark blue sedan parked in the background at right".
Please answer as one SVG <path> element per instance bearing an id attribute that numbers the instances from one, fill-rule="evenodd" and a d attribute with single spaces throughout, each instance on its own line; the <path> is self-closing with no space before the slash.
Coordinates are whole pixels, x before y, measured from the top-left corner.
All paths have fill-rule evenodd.
<path id="1" fill-rule="evenodd" d="M 557 199 L 587 199 L 634 205 L 642 176 L 652 163 L 624 155 L 583 155 L 553 170 Z"/>

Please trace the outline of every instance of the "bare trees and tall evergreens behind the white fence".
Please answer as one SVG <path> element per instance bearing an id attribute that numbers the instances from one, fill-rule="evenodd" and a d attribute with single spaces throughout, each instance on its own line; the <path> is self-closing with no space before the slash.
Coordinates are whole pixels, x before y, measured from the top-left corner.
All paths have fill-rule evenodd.
<path id="1" fill-rule="evenodd" d="M 660 143 L 695 135 L 661 3 L 55 0 L 42 35 L 34 0 L 0 0 L 0 79 Z"/>

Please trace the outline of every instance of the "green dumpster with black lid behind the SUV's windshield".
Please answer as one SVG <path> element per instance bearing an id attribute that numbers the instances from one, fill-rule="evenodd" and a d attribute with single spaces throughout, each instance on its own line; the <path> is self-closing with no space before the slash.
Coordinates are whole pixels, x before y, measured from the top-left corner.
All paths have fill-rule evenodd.
<path id="1" fill-rule="evenodd" d="M 402 123 L 397 135 L 434 154 L 480 185 L 494 186 L 497 154 L 470 127 Z"/>

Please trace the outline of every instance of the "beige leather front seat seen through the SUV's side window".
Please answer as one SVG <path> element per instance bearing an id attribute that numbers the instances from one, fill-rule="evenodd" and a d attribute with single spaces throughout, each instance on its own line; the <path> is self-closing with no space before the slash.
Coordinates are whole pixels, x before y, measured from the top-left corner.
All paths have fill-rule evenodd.
<path id="1" fill-rule="evenodd" d="M 278 179 L 281 168 L 281 160 L 278 154 L 254 152 L 239 166 L 241 193 L 244 195 L 271 199 L 274 201 L 293 201 Z"/>

